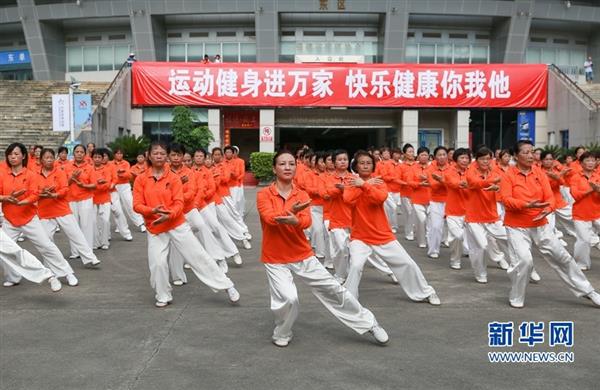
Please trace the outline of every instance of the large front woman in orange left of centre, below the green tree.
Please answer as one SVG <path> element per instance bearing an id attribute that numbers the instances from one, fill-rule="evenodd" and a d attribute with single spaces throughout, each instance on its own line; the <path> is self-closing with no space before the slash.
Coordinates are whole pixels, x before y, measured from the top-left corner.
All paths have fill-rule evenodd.
<path id="1" fill-rule="evenodd" d="M 165 307 L 173 300 L 169 284 L 170 246 L 177 248 L 200 281 L 214 291 L 227 291 L 232 303 L 239 301 L 233 282 L 202 248 L 185 221 L 181 178 L 166 166 L 168 148 L 154 142 L 148 152 L 149 168 L 135 179 L 133 207 L 144 217 L 148 229 L 150 284 L 156 291 L 156 307 Z"/>

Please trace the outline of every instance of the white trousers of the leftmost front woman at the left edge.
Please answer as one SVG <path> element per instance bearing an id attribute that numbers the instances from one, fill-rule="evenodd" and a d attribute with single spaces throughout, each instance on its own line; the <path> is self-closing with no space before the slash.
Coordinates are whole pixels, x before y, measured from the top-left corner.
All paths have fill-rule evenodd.
<path id="1" fill-rule="evenodd" d="M 13 226 L 8 220 L 4 220 L 2 230 L 13 241 L 16 241 L 19 234 L 23 233 L 31 241 L 35 249 L 40 252 L 44 265 L 55 276 L 60 278 L 73 273 L 73 269 L 67 263 L 62 253 L 60 253 L 58 247 L 50 240 L 37 216 L 33 217 L 27 224 L 19 227 Z M 6 281 L 19 283 L 21 275 L 14 273 L 12 267 L 6 266 L 7 263 L 3 264 L 5 265 L 4 273 Z"/>

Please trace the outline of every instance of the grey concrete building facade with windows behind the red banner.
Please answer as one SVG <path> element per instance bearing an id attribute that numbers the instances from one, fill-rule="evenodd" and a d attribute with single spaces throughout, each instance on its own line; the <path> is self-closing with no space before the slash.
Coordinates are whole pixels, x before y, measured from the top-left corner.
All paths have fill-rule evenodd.
<path id="1" fill-rule="evenodd" d="M 580 82 L 587 56 L 600 61 L 600 4 L 592 0 L 14 0 L 0 7 L 5 79 L 109 81 L 130 52 L 172 62 L 218 54 L 225 63 L 545 63 Z M 517 137 L 518 111 L 510 109 L 195 111 L 217 144 L 246 150 L 404 142 L 503 148 Z M 554 128 L 553 117 L 535 112 L 540 146 L 600 137 Z M 170 136 L 169 109 L 135 108 L 131 118 L 133 134 Z M 265 127 L 274 137 L 263 144 Z"/>

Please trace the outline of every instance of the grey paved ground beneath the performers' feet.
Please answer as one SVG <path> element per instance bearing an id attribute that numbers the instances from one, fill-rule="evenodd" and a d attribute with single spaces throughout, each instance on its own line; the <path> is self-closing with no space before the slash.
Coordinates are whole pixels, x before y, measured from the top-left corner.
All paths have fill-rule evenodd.
<path id="1" fill-rule="evenodd" d="M 141 233 L 131 243 L 115 238 L 110 250 L 99 253 L 100 269 L 72 262 L 78 287 L 59 293 L 46 283 L 0 288 L 0 388 L 598 388 L 600 309 L 567 291 L 539 255 L 543 280 L 530 285 L 526 308 L 517 310 L 508 306 L 504 271 L 492 268 L 489 283 L 477 284 L 468 261 L 452 271 L 442 260 L 447 249 L 434 261 L 401 240 L 438 291 L 441 307 L 409 301 L 389 279 L 367 269 L 361 302 L 387 329 L 388 346 L 342 326 L 302 285 L 295 338 L 288 348 L 273 346 L 254 195 L 247 190 L 254 248 L 242 250 L 243 266 L 231 266 L 229 273 L 242 294 L 239 306 L 190 278 L 175 287 L 173 305 L 156 309 Z M 67 253 L 63 237 L 58 241 Z M 587 275 L 600 286 L 600 254 L 593 255 Z M 488 322 L 550 320 L 575 322 L 574 363 L 488 362 Z M 565 349 L 545 342 L 529 350 Z"/>

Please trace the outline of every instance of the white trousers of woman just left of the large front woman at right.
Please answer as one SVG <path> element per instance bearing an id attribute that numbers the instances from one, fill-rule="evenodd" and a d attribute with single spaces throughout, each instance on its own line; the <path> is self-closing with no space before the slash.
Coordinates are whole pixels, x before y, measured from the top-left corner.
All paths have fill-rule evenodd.
<path id="1" fill-rule="evenodd" d="M 469 260 L 476 278 L 487 276 L 484 253 L 487 251 L 494 262 L 506 260 L 508 254 L 506 229 L 501 221 L 494 223 L 467 223 L 467 241 L 469 242 Z M 498 247 L 500 240 L 504 250 Z"/>

